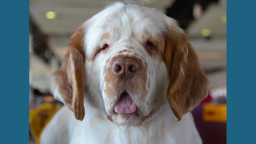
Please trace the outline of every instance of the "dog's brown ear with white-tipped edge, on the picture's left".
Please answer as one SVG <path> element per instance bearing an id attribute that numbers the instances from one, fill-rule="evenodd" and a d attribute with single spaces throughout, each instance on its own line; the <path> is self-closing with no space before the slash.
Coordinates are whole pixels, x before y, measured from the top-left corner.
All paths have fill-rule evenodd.
<path id="1" fill-rule="evenodd" d="M 74 112 L 77 120 L 84 119 L 84 36 L 85 28 L 80 27 L 71 36 L 69 51 L 56 71 L 54 98 Z"/>

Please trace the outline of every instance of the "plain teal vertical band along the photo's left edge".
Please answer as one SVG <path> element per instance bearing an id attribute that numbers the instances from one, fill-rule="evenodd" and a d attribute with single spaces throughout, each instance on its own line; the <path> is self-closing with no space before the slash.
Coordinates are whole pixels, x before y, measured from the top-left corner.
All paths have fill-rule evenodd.
<path id="1" fill-rule="evenodd" d="M 29 143 L 29 1 L 1 1 L 1 143 Z"/>

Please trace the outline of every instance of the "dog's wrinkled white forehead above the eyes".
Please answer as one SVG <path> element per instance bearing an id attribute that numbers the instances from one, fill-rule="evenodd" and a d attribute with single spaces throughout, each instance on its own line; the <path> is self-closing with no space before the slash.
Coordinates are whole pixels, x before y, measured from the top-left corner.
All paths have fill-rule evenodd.
<path id="1" fill-rule="evenodd" d="M 154 9 L 138 5 L 109 6 L 87 21 L 87 47 L 129 39 L 137 39 L 139 42 L 149 39 L 165 28 L 158 14 Z"/>

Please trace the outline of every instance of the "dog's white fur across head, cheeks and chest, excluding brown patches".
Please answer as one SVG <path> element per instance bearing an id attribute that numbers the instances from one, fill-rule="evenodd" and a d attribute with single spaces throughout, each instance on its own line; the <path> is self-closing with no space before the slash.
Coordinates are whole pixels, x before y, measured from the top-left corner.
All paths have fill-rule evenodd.
<path id="1" fill-rule="evenodd" d="M 146 15 L 148 17 L 144 17 Z M 202 143 L 190 112 L 185 114 L 180 122 L 175 120 L 166 98 L 169 79 L 164 60 L 150 57 L 141 42 L 145 30 L 149 32 L 149 36 L 144 36 L 147 39 L 166 30 L 167 25 L 177 27 L 175 20 L 154 9 L 137 5 L 127 6 L 122 3 L 111 4 L 87 20 L 82 25 L 86 26 L 85 57 L 95 57 L 93 60 L 85 58 L 85 86 L 88 89 L 84 95 L 84 120 L 82 122 L 76 120 L 73 112 L 64 106 L 44 128 L 40 143 Z M 109 40 L 103 38 L 106 32 L 111 34 Z M 136 32 L 138 36 L 133 37 Z M 109 50 L 97 53 L 105 43 L 109 44 Z M 142 116 L 155 111 L 151 118 L 139 127 L 126 124 L 120 116 L 113 115 L 116 117 L 115 123 L 107 119 L 107 115 L 111 114 L 113 109 L 113 101 L 117 100 L 117 97 L 110 98 L 104 92 L 107 86 L 114 87 L 111 83 L 105 83 L 104 68 L 111 67 L 107 61 L 118 56 L 118 52 L 129 46 L 135 49 L 123 54 L 136 54 L 136 58 L 147 65 L 148 94 L 145 96 L 145 101 L 148 101 L 149 105 L 141 100 L 140 97 L 144 92 L 140 90 L 131 97 L 141 108 Z M 140 87 L 138 85 L 137 88 Z M 54 95 L 59 100 L 63 100 L 57 88 Z"/>

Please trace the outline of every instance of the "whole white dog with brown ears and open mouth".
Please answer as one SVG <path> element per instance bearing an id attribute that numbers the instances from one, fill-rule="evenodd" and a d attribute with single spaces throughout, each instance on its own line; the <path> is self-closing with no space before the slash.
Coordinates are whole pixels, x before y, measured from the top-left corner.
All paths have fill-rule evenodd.
<path id="1" fill-rule="evenodd" d="M 155 9 L 109 4 L 71 36 L 55 76 L 65 106 L 41 144 L 202 143 L 190 111 L 208 79 L 184 30 Z"/>

